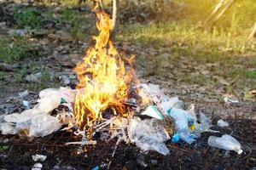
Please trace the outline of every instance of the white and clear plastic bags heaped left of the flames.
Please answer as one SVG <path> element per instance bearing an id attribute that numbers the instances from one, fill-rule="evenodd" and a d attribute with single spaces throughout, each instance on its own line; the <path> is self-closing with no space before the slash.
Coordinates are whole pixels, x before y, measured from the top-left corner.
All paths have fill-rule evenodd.
<path id="1" fill-rule="evenodd" d="M 0 123 L 2 134 L 15 134 L 26 131 L 30 137 L 44 137 L 61 128 L 67 122 L 61 122 L 61 114 L 51 116 L 50 113 L 60 105 L 72 110 L 75 91 L 71 88 L 47 88 L 39 93 L 38 105 L 21 113 L 13 113 L 3 117 Z M 26 107 L 26 103 L 23 102 Z M 67 119 L 67 118 L 66 118 Z"/>

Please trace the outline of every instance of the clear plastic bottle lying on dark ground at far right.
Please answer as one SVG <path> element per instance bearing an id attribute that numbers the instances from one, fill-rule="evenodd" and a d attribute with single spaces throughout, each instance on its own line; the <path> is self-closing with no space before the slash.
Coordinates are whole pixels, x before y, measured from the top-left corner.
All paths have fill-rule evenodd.
<path id="1" fill-rule="evenodd" d="M 241 144 L 228 134 L 224 134 L 222 137 L 210 136 L 208 139 L 208 145 L 223 150 L 234 150 L 238 154 L 241 154 Z"/>

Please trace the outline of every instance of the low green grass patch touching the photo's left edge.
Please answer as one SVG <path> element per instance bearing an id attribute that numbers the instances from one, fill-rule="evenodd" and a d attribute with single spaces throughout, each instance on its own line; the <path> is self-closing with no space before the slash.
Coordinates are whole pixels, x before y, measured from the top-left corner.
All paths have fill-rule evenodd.
<path id="1" fill-rule="evenodd" d="M 31 57 L 30 51 L 33 46 L 26 43 L 26 37 L 0 36 L 0 60 L 6 63 L 13 63 Z"/>

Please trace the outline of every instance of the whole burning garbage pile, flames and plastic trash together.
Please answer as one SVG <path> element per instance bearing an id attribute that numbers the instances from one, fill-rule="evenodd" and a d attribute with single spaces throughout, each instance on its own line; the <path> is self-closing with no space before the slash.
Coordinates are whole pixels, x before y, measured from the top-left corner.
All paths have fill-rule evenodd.
<path id="1" fill-rule="evenodd" d="M 44 137 L 58 130 L 82 136 L 80 142 L 96 144 L 95 136 L 117 144 L 136 144 L 141 150 L 155 150 L 168 155 L 167 141 L 192 144 L 204 132 L 213 132 L 210 118 L 195 114 L 195 105 L 183 110 L 183 101 L 169 98 L 158 85 L 140 83 L 131 58 L 120 56 L 109 40 L 111 20 L 96 12 L 99 35 L 95 47 L 88 49 L 76 66 L 79 83 L 76 89 L 47 88 L 39 92 L 32 109 L 3 117 L 2 134 L 25 133 Z M 224 121 L 220 122 L 224 124 Z M 225 124 L 226 125 L 226 124 Z M 227 125 L 228 126 L 228 125 Z M 230 135 L 210 136 L 208 144 L 241 154 L 241 144 Z"/>

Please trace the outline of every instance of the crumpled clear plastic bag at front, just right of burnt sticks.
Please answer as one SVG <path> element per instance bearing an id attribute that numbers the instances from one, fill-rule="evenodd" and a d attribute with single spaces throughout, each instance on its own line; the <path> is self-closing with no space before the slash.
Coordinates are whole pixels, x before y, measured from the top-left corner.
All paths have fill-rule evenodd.
<path id="1" fill-rule="evenodd" d="M 141 150 L 156 150 L 162 155 L 168 155 L 169 150 L 164 143 L 170 139 L 163 123 L 157 119 L 131 119 L 128 126 L 128 136 Z"/>

